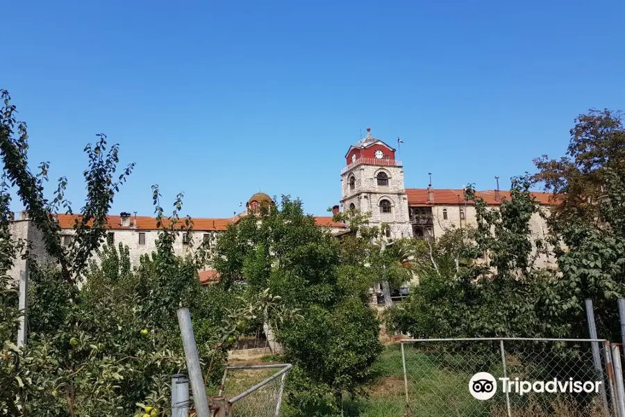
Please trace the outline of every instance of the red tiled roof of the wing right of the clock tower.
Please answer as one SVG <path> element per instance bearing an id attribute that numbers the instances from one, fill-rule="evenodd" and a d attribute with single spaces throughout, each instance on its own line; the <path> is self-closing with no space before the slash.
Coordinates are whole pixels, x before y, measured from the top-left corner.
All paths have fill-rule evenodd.
<path id="1" fill-rule="evenodd" d="M 458 196 L 460 202 L 464 202 L 465 190 L 462 189 L 440 189 L 434 188 L 434 202 L 428 202 L 427 188 L 406 188 L 409 206 L 433 206 L 436 204 L 458 204 Z M 499 191 L 500 201 L 495 199 L 495 190 L 476 191 L 476 197 L 481 197 L 486 204 L 493 206 L 501 204 L 503 199 L 510 199 L 510 191 Z M 555 202 L 553 194 L 532 192 L 532 197 L 542 205 L 552 205 Z"/>

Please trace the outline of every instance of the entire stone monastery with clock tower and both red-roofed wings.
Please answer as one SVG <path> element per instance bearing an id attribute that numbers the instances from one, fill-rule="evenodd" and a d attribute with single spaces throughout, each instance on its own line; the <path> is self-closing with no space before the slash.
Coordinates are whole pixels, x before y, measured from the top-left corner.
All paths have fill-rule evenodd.
<path id="1" fill-rule="evenodd" d="M 475 210 L 472 204 L 465 201 L 463 190 L 435 189 L 431 184 L 427 188 L 406 188 L 403 164 L 395 158 L 395 149 L 383 140 L 374 138 L 371 129 L 367 129 L 365 138 L 349 147 L 340 179 L 340 205 L 334 206 L 333 211 L 336 213 L 356 208 L 371 213 L 371 224 L 388 225 L 387 238 L 437 238 L 452 227 L 463 228 L 476 224 Z M 497 209 L 503 199 L 510 198 L 510 193 L 500 190 L 478 191 L 476 195 L 482 197 L 493 209 Z M 540 203 L 541 209 L 548 212 L 550 195 L 533 193 L 533 196 Z M 201 240 L 214 242 L 228 224 L 238 222 L 244 215 L 258 213 L 263 202 L 272 203 L 272 199 L 265 193 L 256 193 L 248 200 L 245 210 L 233 218 L 193 218 L 193 232 L 190 236 L 178 236 L 176 252 L 185 254 L 192 247 L 197 247 Z M 347 231 L 344 224 L 333 222 L 331 216 L 316 216 L 315 220 L 319 227 L 327 227 L 335 235 Z M 74 217 L 59 214 L 58 221 L 63 229 L 61 242 L 63 245 L 70 245 L 74 233 Z M 20 213 L 11 227 L 15 238 L 28 240 L 33 254 L 38 259 L 45 259 L 41 233 L 33 227 L 27 213 Z M 108 227 L 108 243 L 117 245 L 121 242 L 128 246 L 133 265 L 138 265 L 142 254 L 156 250 L 158 228 L 155 218 L 127 212 L 109 215 Z M 546 233 L 547 226 L 540 215 L 533 215 L 531 229 L 535 236 L 544 236 Z M 11 271 L 12 277 L 19 277 L 18 268 L 16 266 Z M 215 279 L 215 271 L 201 271 L 200 277 L 203 281 L 210 281 Z"/>

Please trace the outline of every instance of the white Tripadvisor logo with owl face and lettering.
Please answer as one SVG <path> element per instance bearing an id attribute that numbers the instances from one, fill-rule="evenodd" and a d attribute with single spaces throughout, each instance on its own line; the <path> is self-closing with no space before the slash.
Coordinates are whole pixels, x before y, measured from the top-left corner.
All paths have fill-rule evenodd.
<path id="1" fill-rule="evenodd" d="M 521 381 L 519 378 L 499 378 L 501 391 L 526 393 L 598 393 L 602 381 L 574 381 L 573 378 L 549 381 Z M 477 400 L 490 400 L 497 393 L 497 380 L 487 372 L 479 372 L 469 380 L 469 393 Z"/>

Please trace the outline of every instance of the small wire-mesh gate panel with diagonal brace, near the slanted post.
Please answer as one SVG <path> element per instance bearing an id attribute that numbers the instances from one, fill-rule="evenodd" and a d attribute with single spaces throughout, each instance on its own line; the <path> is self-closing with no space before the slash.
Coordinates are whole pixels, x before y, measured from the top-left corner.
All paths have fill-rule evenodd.
<path id="1" fill-rule="evenodd" d="M 220 396 L 228 417 L 279 417 L 290 364 L 228 366 Z"/>

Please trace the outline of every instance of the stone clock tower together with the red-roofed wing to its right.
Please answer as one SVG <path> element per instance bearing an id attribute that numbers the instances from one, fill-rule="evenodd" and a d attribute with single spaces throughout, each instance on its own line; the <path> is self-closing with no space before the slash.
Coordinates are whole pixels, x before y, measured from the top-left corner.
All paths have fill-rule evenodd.
<path id="1" fill-rule="evenodd" d="M 452 227 L 476 224 L 476 213 L 465 201 L 464 190 L 406 188 L 403 164 L 395 158 L 395 149 L 382 140 L 367 136 L 349 147 L 346 165 L 341 170 L 341 210 L 356 208 L 371 213 L 371 224 L 389 225 L 387 237 L 436 238 Z M 510 199 L 500 190 L 476 191 L 492 208 Z M 549 211 L 551 195 L 533 193 L 543 211 Z M 540 215 L 531 219 L 532 233 L 544 236 L 546 224 Z"/>

